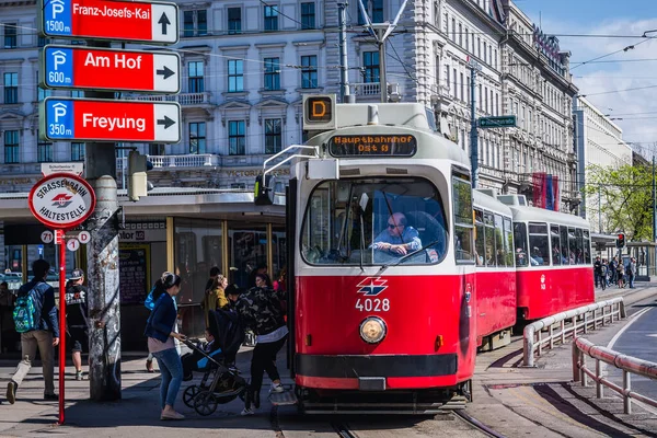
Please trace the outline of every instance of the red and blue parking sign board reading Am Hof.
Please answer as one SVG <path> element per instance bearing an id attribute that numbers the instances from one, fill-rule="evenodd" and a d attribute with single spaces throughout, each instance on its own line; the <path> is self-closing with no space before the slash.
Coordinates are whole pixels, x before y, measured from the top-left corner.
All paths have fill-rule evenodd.
<path id="1" fill-rule="evenodd" d="M 173 53 L 45 46 L 39 84 L 48 89 L 178 93 L 181 58 Z"/>

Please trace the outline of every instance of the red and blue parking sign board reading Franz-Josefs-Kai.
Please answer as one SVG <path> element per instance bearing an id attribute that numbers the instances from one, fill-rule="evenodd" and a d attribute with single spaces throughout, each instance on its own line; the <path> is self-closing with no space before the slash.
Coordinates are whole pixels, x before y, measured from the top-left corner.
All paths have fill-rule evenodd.
<path id="1" fill-rule="evenodd" d="M 42 36 L 175 44 L 178 8 L 170 2 L 38 0 Z"/>

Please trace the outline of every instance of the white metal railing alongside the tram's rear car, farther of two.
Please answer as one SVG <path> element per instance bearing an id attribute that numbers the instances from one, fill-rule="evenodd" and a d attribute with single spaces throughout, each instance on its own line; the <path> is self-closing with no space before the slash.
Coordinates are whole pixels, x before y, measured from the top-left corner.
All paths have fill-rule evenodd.
<path id="1" fill-rule="evenodd" d="M 586 334 L 590 328 L 596 330 L 599 325 L 604 326 L 608 322 L 613 323 L 614 319 L 618 321 L 621 318 L 625 318 L 625 304 L 623 298 L 619 297 L 533 322 L 525 327 L 522 365 L 533 367 L 534 350 L 541 356 L 545 344 L 552 349 L 556 342 L 565 344 L 566 338 L 575 338 L 579 332 Z M 570 321 L 569 325 L 566 325 L 567 320 Z"/>

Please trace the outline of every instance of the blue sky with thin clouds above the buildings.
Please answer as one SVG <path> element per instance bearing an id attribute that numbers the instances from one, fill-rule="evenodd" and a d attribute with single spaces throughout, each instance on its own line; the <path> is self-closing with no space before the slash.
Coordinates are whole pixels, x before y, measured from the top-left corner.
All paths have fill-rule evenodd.
<path id="1" fill-rule="evenodd" d="M 572 53 L 570 72 L 579 94 L 616 118 L 625 141 L 641 143 L 646 155 L 657 153 L 657 0 L 515 2 L 545 34 L 557 35 L 562 50 Z M 647 31 L 656 32 L 643 37 Z M 623 50 L 629 46 L 634 48 Z"/>

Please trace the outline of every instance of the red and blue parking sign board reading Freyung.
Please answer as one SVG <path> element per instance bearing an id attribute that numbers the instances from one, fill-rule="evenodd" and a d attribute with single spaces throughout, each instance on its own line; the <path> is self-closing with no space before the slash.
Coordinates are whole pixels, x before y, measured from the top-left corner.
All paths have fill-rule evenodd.
<path id="1" fill-rule="evenodd" d="M 175 102 L 46 97 L 39 103 L 39 137 L 46 141 L 181 141 Z"/>

